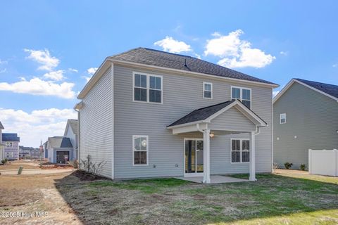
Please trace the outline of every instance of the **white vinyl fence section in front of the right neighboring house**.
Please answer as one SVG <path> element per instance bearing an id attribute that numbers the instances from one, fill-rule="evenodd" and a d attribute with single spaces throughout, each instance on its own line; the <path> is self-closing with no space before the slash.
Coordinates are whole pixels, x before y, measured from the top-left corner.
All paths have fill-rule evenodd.
<path id="1" fill-rule="evenodd" d="M 308 173 L 338 176 L 338 150 L 308 150 Z"/>

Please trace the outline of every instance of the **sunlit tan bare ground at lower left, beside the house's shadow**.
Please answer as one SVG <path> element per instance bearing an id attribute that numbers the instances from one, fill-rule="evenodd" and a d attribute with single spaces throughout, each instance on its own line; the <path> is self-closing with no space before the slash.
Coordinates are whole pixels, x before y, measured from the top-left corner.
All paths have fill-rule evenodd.
<path id="1" fill-rule="evenodd" d="M 69 174 L 1 175 L 0 224 L 81 224 L 55 187 L 79 182 Z"/>

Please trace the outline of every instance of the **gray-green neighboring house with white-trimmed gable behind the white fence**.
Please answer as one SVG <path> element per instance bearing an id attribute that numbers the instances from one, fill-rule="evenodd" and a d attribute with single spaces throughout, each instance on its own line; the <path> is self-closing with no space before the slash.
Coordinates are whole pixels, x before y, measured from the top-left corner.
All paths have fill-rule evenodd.
<path id="1" fill-rule="evenodd" d="M 308 166 L 308 149 L 338 148 L 338 86 L 292 79 L 273 99 L 274 162 Z"/>

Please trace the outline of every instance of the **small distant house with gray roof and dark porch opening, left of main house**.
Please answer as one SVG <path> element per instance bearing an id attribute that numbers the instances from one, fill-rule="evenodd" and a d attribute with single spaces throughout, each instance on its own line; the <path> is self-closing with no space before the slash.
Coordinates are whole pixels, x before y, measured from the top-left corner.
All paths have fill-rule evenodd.
<path id="1" fill-rule="evenodd" d="M 48 160 L 52 163 L 64 164 L 74 159 L 74 148 L 69 138 L 64 136 L 49 137 L 46 150 Z"/>

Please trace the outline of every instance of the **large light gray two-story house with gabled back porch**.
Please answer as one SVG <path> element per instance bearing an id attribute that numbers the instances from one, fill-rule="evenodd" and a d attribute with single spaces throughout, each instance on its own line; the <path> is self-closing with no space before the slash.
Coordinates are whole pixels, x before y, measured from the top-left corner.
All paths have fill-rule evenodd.
<path id="1" fill-rule="evenodd" d="M 111 179 L 272 171 L 277 84 L 198 58 L 138 48 L 80 92 L 80 160 Z"/>

